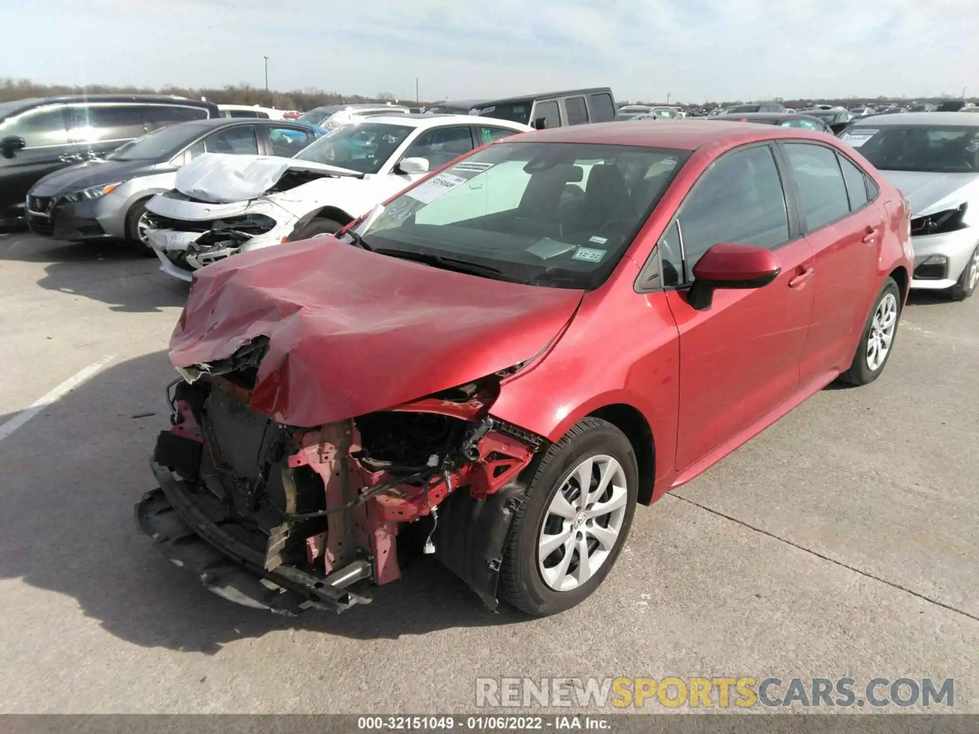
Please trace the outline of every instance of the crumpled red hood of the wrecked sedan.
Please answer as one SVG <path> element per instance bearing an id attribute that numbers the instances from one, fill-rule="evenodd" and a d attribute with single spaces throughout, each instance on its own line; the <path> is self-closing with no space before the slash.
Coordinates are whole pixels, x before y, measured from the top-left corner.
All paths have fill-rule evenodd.
<path id="1" fill-rule="evenodd" d="M 170 361 L 188 367 L 224 359 L 264 335 L 268 351 L 252 407 L 306 428 L 524 361 L 558 334 L 582 296 L 318 238 L 198 271 Z"/>

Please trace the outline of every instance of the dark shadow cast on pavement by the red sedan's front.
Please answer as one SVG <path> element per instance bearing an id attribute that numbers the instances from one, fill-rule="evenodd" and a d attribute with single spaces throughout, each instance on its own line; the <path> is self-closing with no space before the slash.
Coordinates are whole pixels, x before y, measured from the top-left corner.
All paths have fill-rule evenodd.
<path id="1" fill-rule="evenodd" d="M 8 480 L 0 492 L 0 578 L 69 596 L 137 645 L 206 654 L 290 627 L 393 639 L 526 619 L 489 612 L 425 557 L 402 580 L 375 589 L 373 604 L 341 616 L 283 619 L 211 594 L 163 559 L 133 518 L 133 505 L 155 486 L 148 461 L 167 425 L 163 388 L 172 376 L 163 351 L 110 366 L 0 442 Z"/>

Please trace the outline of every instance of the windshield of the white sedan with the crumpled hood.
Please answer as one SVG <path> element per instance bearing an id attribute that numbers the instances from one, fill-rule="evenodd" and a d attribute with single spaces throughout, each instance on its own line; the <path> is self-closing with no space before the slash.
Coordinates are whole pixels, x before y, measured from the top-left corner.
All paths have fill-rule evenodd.
<path id="1" fill-rule="evenodd" d="M 339 165 L 361 173 L 377 173 L 414 129 L 402 125 L 353 122 L 328 132 L 293 158 Z"/>

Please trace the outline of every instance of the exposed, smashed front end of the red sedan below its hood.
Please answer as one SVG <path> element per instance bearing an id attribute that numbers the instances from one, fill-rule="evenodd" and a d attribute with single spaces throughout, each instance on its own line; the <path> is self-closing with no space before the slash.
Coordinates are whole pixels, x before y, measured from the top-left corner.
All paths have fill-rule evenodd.
<path id="1" fill-rule="evenodd" d="M 297 428 L 249 405 L 265 348 L 180 370 L 140 528 L 215 593 L 295 614 L 369 602 L 400 577 L 398 532 L 420 524 L 402 534 L 495 608 L 518 478 L 545 444 L 489 415 L 500 375 Z"/>

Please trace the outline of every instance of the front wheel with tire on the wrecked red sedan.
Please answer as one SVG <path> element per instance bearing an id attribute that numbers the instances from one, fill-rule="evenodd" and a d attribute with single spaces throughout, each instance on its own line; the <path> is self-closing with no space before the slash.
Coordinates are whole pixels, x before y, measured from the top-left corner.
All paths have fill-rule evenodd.
<path id="1" fill-rule="evenodd" d="M 618 428 L 585 418 L 537 465 L 500 568 L 503 593 L 536 617 L 587 598 L 629 535 L 638 493 L 632 445 Z"/>

